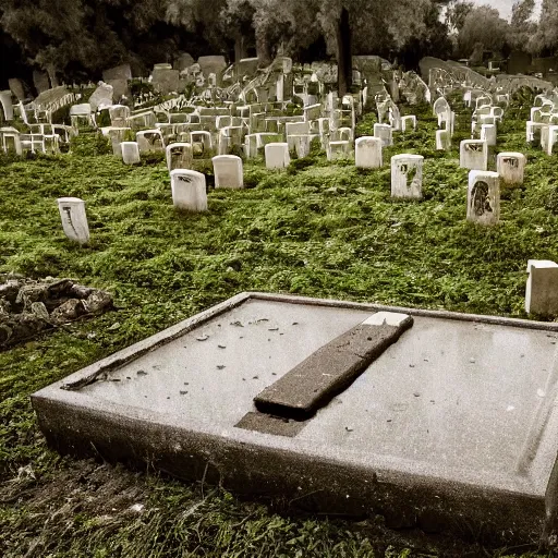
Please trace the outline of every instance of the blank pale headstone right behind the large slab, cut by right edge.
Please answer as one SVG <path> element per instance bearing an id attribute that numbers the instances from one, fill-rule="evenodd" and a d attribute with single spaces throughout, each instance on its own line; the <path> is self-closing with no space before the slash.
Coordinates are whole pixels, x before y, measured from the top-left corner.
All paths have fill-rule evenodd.
<path id="1" fill-rule="evenodd" d="M 541 316 L 558 314 L 558 264 L 548 259 L 527 262 L 525 312 Z"/>

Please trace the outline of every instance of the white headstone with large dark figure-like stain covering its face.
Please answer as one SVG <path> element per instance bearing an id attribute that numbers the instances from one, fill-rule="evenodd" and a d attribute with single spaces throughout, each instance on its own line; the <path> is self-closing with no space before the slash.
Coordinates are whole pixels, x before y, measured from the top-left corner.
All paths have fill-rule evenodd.
<path id="1" fill-rule="evenodd" d="M 499 219 L 499 174 L 486 170 L 472 170 L 469 173 L 466 220 L 480 225 L 496 225 Z"/>

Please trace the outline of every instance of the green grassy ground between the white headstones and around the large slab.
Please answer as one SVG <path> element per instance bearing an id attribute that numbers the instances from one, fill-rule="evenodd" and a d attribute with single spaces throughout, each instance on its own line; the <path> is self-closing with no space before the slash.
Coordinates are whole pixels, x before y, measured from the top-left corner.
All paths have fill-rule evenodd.
<path id="1" fill-rule="evenodd" d="M 174 210 L 161 157 L 124 166 L 94 134 L 78 136 L 71 155 L 2 159 L 0 274 L 72 278 L 111 292 L 116 308 L 0 352 L 1 556 L 536 555 L 536 541 L 495 549 L 466 525 L 452 539 L 391 531 L 381 518 L 292 514 L 292 501 L 240 501 L 102 456 L 62 458 L 31 408 L 37 389 L 241 291 L 526 317 L 526 262 L 558 253 L 556 159 L 527 148 L 529 114 L 508 109 L 497 150 L 527 156 L 525 182 L 502 187 L 497 226 L 475 226 L 465 221 L 469 171 L 458 160 L 471 113 L 457 110 L 445 153 L 435 150 L 429 106 L 402 112 L 417 114 L 418 130 L 398 133 L 381 169 L 315 153 L 283 172 L 248 161 L 246 187 L 211 190 L 205 214 Z M 356 135 L 373 135 L 374 122 L 366 114 Z M 398 153 L 425 156 L 420 203 L 390 198 Z M 210 160 L 195 169 L 211 184 Z M 56 201 L 69 195 L 86 201 L 84 247 L 60 226 Z"/>

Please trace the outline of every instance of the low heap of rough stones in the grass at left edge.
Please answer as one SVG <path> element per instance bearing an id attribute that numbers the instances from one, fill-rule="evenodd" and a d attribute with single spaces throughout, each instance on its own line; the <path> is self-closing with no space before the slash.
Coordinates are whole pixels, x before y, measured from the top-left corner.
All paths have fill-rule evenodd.
<path id="1" fill-rule="evenodd" d="M 71 279 L 0 274 L 0 351 L 112 308 L 112 296 Z"/>

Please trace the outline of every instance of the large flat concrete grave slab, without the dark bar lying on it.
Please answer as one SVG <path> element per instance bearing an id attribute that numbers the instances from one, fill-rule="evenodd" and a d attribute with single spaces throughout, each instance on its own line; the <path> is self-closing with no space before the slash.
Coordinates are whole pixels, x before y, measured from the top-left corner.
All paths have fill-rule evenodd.
<path id="1" fill-rule="evenodd" d="M 556 508 L 558 324 L 272 299 L 239 295 L 35 393 L 49 444 L 398 526 L 539 533 L 545 494 Z M 375 310 L 413 328 L 304 427 L 239 424 Z"/>

